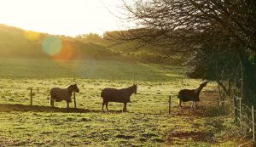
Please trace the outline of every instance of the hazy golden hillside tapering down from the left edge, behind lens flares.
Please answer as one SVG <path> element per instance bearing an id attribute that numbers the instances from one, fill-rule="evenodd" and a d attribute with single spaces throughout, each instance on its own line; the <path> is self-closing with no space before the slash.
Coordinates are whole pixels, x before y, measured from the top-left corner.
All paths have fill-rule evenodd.
<path id="1" fill-rule="evenodd" d="M 53 36 L 35 31 L 25 31 L 20 28 L 0 25 L 0 57 L 23 58 L 108 58 L 113 54 L 99 45 L 91 42 L 81 42 L 73 37 Z M 55 54 L 49 50 L 58 50 Z"/>

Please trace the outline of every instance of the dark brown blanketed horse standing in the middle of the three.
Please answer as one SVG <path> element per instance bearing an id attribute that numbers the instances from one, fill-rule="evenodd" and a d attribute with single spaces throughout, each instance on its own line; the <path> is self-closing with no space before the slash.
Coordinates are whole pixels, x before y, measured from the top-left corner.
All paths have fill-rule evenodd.
<path id="1" fill-rule="evenodd" d="M 118 102 L 124 103 L 123 112 L 125 112 L 127 103 L 131 102 L 130 97 L 132 93 L 137 94 L 137 85 L 122 89 L 104 88 L 101 93 L 103 98 L 102 111 L 104 111 L 104 105 L 106 105 L 108 111 L 108 102 Z"/>

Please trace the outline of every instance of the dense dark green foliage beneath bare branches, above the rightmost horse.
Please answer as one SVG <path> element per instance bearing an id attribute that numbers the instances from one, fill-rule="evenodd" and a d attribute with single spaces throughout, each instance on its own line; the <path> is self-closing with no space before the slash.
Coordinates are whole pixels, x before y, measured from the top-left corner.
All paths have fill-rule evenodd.
<path id="1" fill-rule="evenodd" d="M 230 37 L 225 37 L 219 31 L 211 30 L 211 33 L 215 34 L 213 38 L 203 40 L 201 47 L 189 59 L 187 65 L 192 67 L 189 77 L 217 82 L 239 82 L 240 62 L 238 54 L 234 52 L 237 45 L 230 43 Z"/>

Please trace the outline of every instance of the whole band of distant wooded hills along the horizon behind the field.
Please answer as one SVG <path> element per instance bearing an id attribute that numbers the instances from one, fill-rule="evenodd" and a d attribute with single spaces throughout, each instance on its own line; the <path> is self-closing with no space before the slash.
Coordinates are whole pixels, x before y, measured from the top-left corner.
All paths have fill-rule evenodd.
<path id="1" fill-rule="evenodd" d="M 137 52 L 133 52 L 133 48 L 140 46 L 139 42 L 117 42 L 109 39 L 109 36 L 113 37 L 120 32 L 125 31 L 108 31 L 103 36 L 90 33 L 77 37 L 66 37 L 25 31 L 9 25 L 0 25 L 0 57 L 92 58 L 153 62 L 154 59 L 160 56 L 160 54 L 147 52 L 144 47 L 141 47 L 142 49 Z M 60 47 L 56 45 L 58 43 Z M 44 46 L 49 49 L 60 48 L 60 51 L 56 52 L 57 54 L 49 54 L 45 52 Z M 165 63 L 180 65 L 184 60 L 182 57 L 183 55 L 174 56 L 172 59 L 165 61 Z"/>

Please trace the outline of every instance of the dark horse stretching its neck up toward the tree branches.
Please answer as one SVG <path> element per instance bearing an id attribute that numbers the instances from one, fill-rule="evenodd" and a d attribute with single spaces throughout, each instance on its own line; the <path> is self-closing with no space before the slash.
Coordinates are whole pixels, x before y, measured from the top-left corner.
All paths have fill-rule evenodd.
<path id="1" fill-rule="evenodd" d="M 180 90 L 177 94 L 177 99 L 178 99 L 177 107 L 182 107 L 181 106 L 182 102 L 192 101 L 191 108 L 195 109 L 196 102 L 198 102 L 200 100 L 199 94 L 201 93 L 201 89 L 206 86 L 207 86 L 207 82 L 203 82 L 199 85 L 198 88 Z"/>

